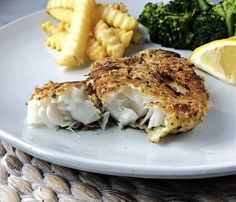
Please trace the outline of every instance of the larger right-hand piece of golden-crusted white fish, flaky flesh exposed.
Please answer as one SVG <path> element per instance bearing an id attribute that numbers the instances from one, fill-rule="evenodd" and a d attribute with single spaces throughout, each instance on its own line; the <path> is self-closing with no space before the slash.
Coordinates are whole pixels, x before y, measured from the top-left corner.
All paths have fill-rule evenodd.
<path id="1" fill-rule="evenodd" d="M 120 126 L 144 129 L 152 142 L 191 130 L 209 109 L 204 79 L 174 52 L 106 58 L 93 63 L 87 83 Z"/>

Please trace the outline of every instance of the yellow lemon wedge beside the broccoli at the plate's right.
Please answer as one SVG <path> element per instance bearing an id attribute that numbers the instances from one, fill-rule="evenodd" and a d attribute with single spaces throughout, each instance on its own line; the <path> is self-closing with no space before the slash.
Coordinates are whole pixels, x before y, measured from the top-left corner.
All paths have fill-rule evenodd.
<path id="1" fill-rule="evenodd" d="M 236 37 L 212 41 L 196 48 L 189 61 L 216 78 L 236 85 Z"/>

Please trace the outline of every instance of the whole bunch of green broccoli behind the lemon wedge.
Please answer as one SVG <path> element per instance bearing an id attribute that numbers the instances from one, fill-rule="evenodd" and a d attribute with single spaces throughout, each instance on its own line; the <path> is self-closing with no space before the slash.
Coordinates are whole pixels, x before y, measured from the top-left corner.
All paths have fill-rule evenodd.
<path id="1" fill-rule="evenodd" d="M 236 34 L 236 0 L 223 0 L 214 5 L 208 0 L 148 3 L 139 22 L 148 28 L 153 42 L 178 49 L 194 49 Z"/>

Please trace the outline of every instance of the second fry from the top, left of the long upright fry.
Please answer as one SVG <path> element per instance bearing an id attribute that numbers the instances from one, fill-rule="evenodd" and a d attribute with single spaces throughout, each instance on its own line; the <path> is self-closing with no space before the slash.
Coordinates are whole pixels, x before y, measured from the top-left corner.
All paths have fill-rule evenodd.
<path id="1" fill-rule="evenodd" d="M 48 13 L 52 15 L 54 18 L 57 20 L 71 23 L 71 19 L 73 17 L 73 11 L 70 9 L 65 9 L 65 8 L 53 8 L 49 9 Z"/>

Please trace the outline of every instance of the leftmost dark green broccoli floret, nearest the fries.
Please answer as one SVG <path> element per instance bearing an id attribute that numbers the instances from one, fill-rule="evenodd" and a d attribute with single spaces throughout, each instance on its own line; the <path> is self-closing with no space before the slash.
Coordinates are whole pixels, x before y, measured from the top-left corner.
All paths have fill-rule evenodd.
<path id="1" fill-rule="evenodd" d="M 149 29 L 151 41 L 185 49 L 193 38 L 189 27 L 196 12 L 196 0 L 172 0 L 166 5 L 148 3 L 139 16 L 139 22 Z"/>

